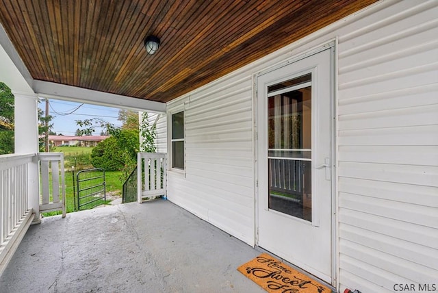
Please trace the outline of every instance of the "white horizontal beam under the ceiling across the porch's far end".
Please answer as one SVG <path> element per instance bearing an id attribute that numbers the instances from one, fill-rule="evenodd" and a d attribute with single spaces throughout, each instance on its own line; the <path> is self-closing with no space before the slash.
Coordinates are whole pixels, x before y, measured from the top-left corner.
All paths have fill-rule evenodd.
<path id="1" fill-rule="evenodd" d="M 166 103 L 127 97 L 120 94 L 88 90 L 76 86 L 55 84 L 49 81 L 34 80 L 34 91 L 38 97 L 74 101 L 107 107 L 117 107 L 127 110 L 166 113 Z"/>

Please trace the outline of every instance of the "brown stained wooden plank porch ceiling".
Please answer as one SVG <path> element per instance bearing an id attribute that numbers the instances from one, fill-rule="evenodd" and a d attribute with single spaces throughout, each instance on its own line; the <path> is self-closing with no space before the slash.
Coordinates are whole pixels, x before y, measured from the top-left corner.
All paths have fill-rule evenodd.
<path id="1" fill-rule="evenodd" d="M 0 0 L 0 21 L 34 79 L 166 102 L 373 2 Z"/>

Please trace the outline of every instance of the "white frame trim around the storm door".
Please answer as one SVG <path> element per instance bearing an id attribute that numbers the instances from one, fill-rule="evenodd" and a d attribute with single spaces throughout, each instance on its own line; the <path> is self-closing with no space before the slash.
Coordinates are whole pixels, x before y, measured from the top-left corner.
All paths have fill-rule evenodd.
<path id="1" fill-rule="evenodd" d="M 322 51 L 330 49 L 331 51 L 331 285 L 337 287 L 337 277 L 338 277 L 338 261 L 337 253 L 339 251 L 339 241 L 338 241 L 338 220 L 337 220 L 337 38 L 320 44 L 319 46 L 312 47 L 306 51 L 298 53 L 292 57 L 287 58 L 283 62 L 275 64 L 274 66 L 269 66 L 255 74 L 253 74 L 253 157 L 254 157 L 254 186 L 255 186 L 255 196 L 254 196 L 254 243 L 258 246 L 259 243 L 259 170 L 258 170 L 258 77 L 271 71 L 275 71 L 281 67 L 287 66 L 299 60 L 305 59 L 311 55 L 315 55 Z"/>

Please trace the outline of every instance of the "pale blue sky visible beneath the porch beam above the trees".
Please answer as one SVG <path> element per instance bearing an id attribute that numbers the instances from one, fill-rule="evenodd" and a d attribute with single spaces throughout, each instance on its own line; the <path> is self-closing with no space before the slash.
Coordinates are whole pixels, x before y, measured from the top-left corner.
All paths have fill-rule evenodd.
<path id="1" fill-rule="evenodd" d="M 54 116 L 51 123 L 53 128 L 51 131 L 56 132 L 58 135 L 62 133 L 64 136 L 74 136 L 77 126 L 75 120 L 85 120 L 90 118 L 101 118 L 115 126 L 120 127 L 122 123 L 117 120 L 119 109 L 113 107 L 103 107 L 98 105 L 90 105 L 75 103 L 70 101 L 61 101 L 55 99 L 49 99 L 49 114 Z M 41 101 L 38 107 L 45 113 L 46 103 Z M 94 136 L 99 136 L 102 129 L 96 127 Z"/>

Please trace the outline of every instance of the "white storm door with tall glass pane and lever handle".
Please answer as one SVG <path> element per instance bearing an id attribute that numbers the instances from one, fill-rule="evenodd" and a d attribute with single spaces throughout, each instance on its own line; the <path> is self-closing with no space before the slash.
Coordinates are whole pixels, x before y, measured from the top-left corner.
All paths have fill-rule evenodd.
<path id="1" fill-rule="evenodd" d="M 257 77 L 257 244 L 331 283 L 332 49 Z"/>

